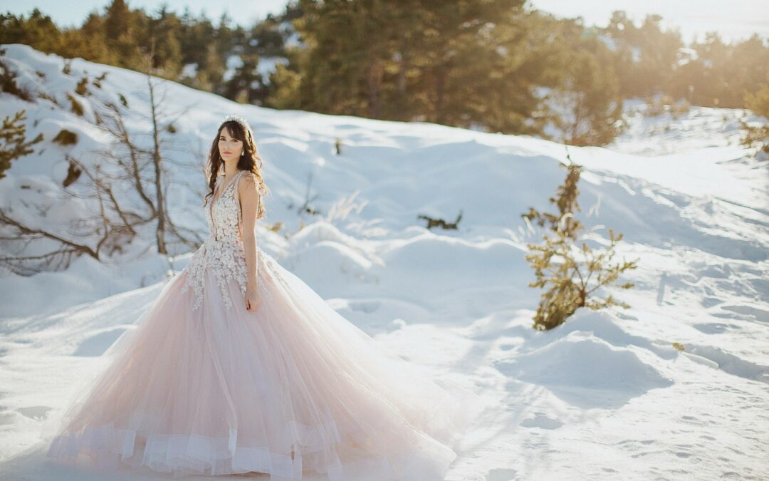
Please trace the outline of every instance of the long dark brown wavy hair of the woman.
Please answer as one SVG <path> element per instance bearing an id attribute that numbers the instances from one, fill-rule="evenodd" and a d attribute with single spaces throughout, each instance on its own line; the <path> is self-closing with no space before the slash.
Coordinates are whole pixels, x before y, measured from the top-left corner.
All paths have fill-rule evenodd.
<path id="1" fill-rule="evenodd" d="M 222 129 L 227 129 L 231 137 L 243 142 L 243 155 L 238 160 L 238 170 L 245 170 L 255 175 L 256 188 L 259 194 L 259 205 L 257 208 L 257 219 L 261 219 L 265 216 L 265 203 L 264 197 L 268 195 L 270 189 L 265 185 L 265 179 L 261 175 L 261 157 L 259 156 L 256 143 L 254 142 L 254 134 L 251 129 L 245 129 L 240 122 L 235 120 L 228 120 L 222 122 L 219 125 L 219 129 L 216 132 L 214 142 L 211 143 L 211 151 L 208 152 L 208 189 L 210 191 L 205 195 L 203 206 L 208 204 L 208 198 L 214 195 L 214 189 L 216 187 L 216 181 L 219 175 L 219 170 L 225 165 L 224 159 L 221 159 L 219 154 L 219 135 L 221 135 Z"/>

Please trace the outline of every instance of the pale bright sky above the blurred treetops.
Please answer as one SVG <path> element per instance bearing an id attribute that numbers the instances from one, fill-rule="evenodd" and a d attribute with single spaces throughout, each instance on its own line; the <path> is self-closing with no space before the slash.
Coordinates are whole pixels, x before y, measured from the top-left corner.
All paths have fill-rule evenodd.
<path id="1" fill-rule="evenodd" d="M 158 0 L 129 0 L 132 8 L 145 8 L 152 11 L 162 5 Z M 210 2 L 208 0 L 165 0 L 170 9 L 183 12 L 188 6 L 192 13 L 205 11 L 209 18 L 218 18 L 222 12 L 228 12 L 232 21 L 240 25 L 252 25 L 258 18 L 264 18 L 268 12 L 280 13 L 286 0 L 258 0 L 238 2 L 237 9 L 232 2 Z M 61 0 L 0 0 L 0 11 L 15 14 L 28 14 L 32 8 L 39 8 L 51 15 L 58 25 L 81 25 L 89 12 L 94 9 L 103 11 L 109 0 L 79 0 L 61 2 Z M 614 10 L 628 12 L 636 25 L 645 15 L 662 15 L 664 28 L 680 28 L 685 43 L 696 36 L 704 38 L 705 32 L 717 31 L 726 42 L 750 37 L 757 32 L 769 37 L 769 2 L 766 0 L 530 0 L 529 5 L 558 16 L 584 18 L 585 25 L 604 26 Z"/>

